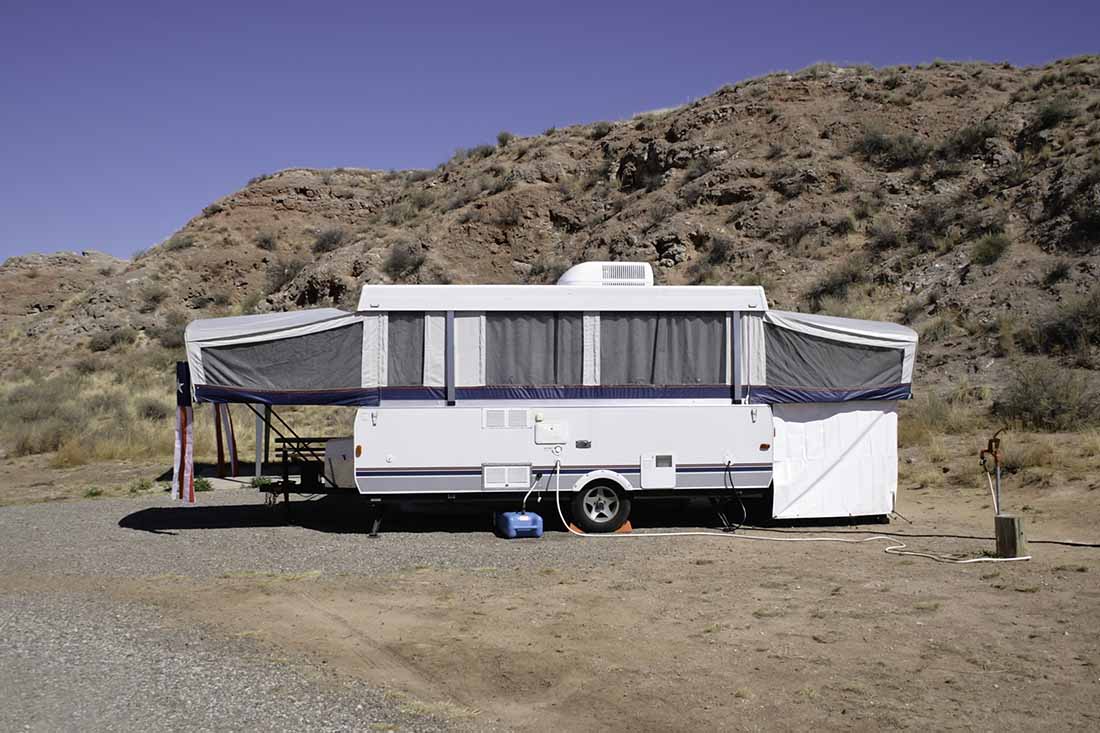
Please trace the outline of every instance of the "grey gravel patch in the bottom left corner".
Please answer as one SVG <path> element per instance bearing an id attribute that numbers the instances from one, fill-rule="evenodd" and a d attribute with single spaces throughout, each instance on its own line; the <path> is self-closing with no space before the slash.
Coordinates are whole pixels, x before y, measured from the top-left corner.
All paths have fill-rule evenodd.
<path id="1" fill-rule="evenodd" d="M 4 731 L 447 729 L 378 690 L 173 627 L 140 604 L 6 594 L 0 625 Z"/>

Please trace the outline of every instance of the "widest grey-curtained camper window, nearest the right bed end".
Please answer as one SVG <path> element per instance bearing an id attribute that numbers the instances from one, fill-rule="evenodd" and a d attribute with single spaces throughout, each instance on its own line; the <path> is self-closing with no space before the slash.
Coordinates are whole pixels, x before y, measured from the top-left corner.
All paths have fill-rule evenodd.
<path id="1" fill-rule="evenodd" d="M 725 384 L 726 314 L 602 313 L 602 384 Z"/>

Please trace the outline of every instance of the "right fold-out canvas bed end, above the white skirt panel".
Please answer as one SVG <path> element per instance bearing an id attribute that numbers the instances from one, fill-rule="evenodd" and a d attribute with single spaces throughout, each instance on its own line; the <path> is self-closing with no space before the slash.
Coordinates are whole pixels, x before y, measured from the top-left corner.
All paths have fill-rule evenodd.
<path id="1" fill-rule="evenodd" d="M 916 332 L 904 326 L 769 310 L 741 318 L 745 383 L 762 404 L 912 396 Z"/>

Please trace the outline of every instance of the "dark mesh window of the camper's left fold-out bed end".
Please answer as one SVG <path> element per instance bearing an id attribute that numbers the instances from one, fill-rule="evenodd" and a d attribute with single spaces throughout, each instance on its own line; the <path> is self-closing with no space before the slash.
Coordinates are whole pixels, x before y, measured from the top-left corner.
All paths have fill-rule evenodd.
<path id="1" fill-rule="evenodd" d="M 363 324 L 255 343 L 202 349 L 208 384 L 251 390 L 344 390 L 361 385 Z"/>

